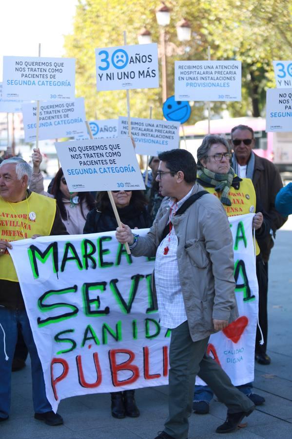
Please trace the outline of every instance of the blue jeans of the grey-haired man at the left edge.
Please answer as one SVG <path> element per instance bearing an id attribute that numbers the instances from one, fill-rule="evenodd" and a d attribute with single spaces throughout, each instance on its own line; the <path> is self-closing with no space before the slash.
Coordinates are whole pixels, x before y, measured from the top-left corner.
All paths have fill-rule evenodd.
<path id="1" fill-rule="evenodd" d="M 0 323 L 5 332 L 5 350 L 9 357 L 8 361 L 6 361 L 4 353 L 4 334 L 0 327 L 0 418 L 7 418 L 10 412 L 11 365 L 17 342 L 18 327 L 23 335 L 31 358 L 33 404 L 35 412 L 45 413 L 52 410 L 52 406 L 46 397 L 42 367 L 26 311 L 9 310 L 0 306 Z"/>

